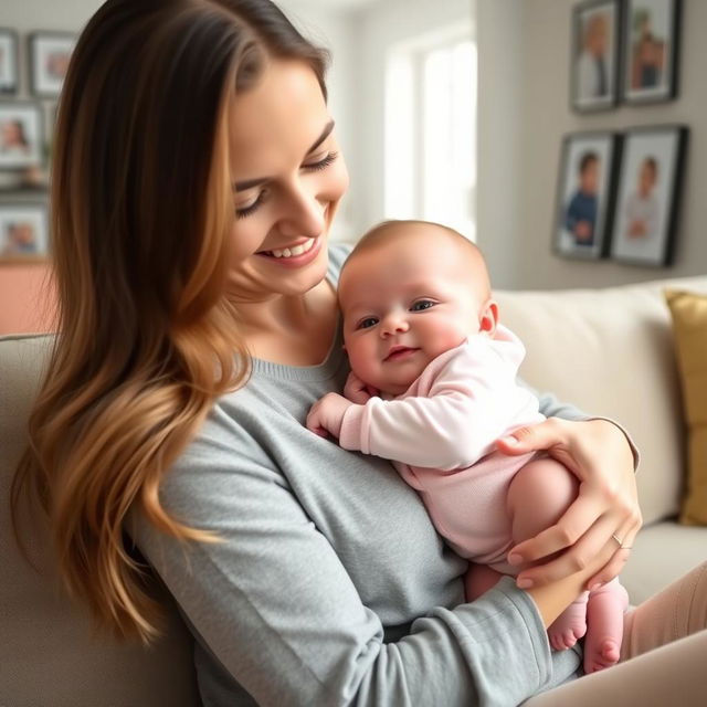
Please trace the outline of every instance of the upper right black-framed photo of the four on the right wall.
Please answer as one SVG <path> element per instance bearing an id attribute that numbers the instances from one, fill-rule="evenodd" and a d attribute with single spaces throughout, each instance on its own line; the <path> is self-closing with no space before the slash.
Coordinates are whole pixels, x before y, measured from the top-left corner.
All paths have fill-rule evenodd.
<path id="1" fill-rule="evenodd" d="M 625 103 L 658 103 L 677 95 L 680 14 L 680 0 L 626 0 Z"/>

